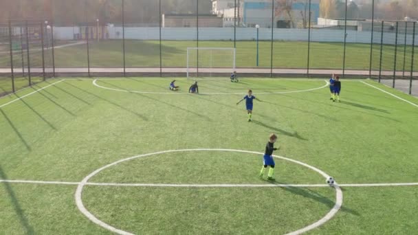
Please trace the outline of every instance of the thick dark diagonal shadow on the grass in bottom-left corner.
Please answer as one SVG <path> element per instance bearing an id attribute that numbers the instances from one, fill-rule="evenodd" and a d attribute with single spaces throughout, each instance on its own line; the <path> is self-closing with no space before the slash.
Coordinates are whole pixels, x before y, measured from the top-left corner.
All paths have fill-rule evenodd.
<path id="1" fill-rule="evenodd" d="M 8 179 L 7 175 L 5 175 L 5 172 L 3 172 L 3 168 L 1 168 L 1 166 L 0 166 L 0 179 L 5 179 L 5 180 Z M 21 226 L 25 230 L 25 234 L 34 234 L 35 233 L 34 229 L 32 228 L 32 226 L 30 226 L 28 218 L 26 218 L 25 214 L 23 214 L 23 209 L 21 208 L 21 205 L 19 204 L 19 200 L 17 199 L 16 194 L 14 194 L 14 191 L 12 189 L 12 186 L 10 186 L 10 183 L 3 182 L 0 184 L 3 184 L 4 186 L 3 188 L 5 188 L 5 192 L 8 194 L 10 198 L 14 211 L 19 217 L 19 222 L 21 223 Z"/>

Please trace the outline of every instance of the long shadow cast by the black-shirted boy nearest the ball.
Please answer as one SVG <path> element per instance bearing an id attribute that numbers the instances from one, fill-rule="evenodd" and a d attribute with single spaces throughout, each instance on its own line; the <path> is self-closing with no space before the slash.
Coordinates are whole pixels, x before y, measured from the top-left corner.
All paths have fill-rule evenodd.
<path id="1" fill-rule="evenodd" d="M 281 183 L 278 181 L 268 181 L 269 183 L 272 184 L 286 184 L 286 183 Z M 322 194 L 315 192 L 314 190 L 311 190 L 309 188 L 301 188 L 301 187 L 280 187 L 282 190 L 285 190 L 286 192 L 290 192 L 292 194 L 296 194 L 300 197 L 305 197 L 307 199 L 311 199 L 314 201 L 318 201 L 324 205 L 327 205 L 328 208 L 333 208 L 334 205 L 336 204 L 334 201 L 328 199 L 327 197 L 323 196 Z M 360 214 L 358 212 L 356 212 L 355 210 L 351 210 L 350 208 L 345 207 L 344 205 L 341 206 L 340 209 L 342 212 L 348 212 L 350 214 L 354 214 L 356 216 L 360 216 Z"/>

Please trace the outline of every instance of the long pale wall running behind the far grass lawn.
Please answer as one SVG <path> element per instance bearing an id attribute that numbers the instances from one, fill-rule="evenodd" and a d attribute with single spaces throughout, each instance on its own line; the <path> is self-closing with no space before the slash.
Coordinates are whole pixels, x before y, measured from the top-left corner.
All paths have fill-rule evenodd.
<path id="1" fill-rule="evenodd" d="M 163 40 L 196 40 L 195 27 L 164 27 Z M 54 38 L 71 40 L 74 32 L 78 34 L 78 27 L 54 27 Z M 119 36 L 117 35 L 119 32 Z M 271 29 L 260 28 L 260 40 L 270 41 Z M 380 43 L 380 32 L 373 35 L 374 43 Z M 109 27 L 109 38 L 122 38 L 122 27 Z M 125 27 L 126 39 L 159 40 L 159 27 Z M 256 29 L 250 27 L 237 27 L 237 40 L 254 40 Z M 304 29 L 274 29 L 274 40 L 280 41 L 307 41 L 308 30 Z M 399 35 L 398 44 L 404 43 L 404 36 Z M 234 40 L 233 27 L 199 27 L 199 40 Z M 311 30 L 311 41 L 316 42 L 344 42 L 344 30 Z M 347 31 L 347 43 L 370 43 L 371 32 Z M 412 35 L 407 37 L 408 45 L 412 44 Z M 395 44 L 395 33 L 384 33 L 385 44 Z M 418 46 L 418 35 L 415 36 L 415 45 Z"/>

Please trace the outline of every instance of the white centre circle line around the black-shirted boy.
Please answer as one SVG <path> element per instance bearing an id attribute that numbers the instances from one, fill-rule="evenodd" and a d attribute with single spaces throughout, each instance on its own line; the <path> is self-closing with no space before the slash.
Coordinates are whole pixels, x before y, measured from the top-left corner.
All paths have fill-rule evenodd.
<path id="1" fill-rule="evenodd" d="M 102 170 L 107 169 L 111 166 L 115 166 L 117 164 L 120 164 L 124 161 L 130 161 L 130 160 L 137 159 L 137 158 L 140 158 L 140 157 L 147 157 L 147 156 L 159 155 L 159 154 L 164 154 L 164 153 L 178 153 L 178 152 L 192 152 L 192 151 L 218 151 L 218 152 L 252 153 L 252 154 L 256 154 L 256 155 L 264 155 L 264 153 L 259 153 L 259 152 L 255 152 L 255 151 L 248 151 L 248 150 L 223 149 L 223 148 L 195 148 L 195 149 L 164 150 L 164 151 L 160 151 L 160 152 L 146 153 L 146 154 L 137 155 L 137 156 L 134 156 L 134 157 L 128 157 L 128 158 L 125 158 L 125 159 L 120 159 L 119 161 L 115 161 L 111 164 L 107 164 L 106 166 L 102 166 L 102 168 L 98 168 L 94 172 L 91 172 L 90 175 L 87 175 L 87 177 L 85 177 L 82 181 L 80 181 L 80 183 L 78 183 L 76 194 L 75 194 L 76 205 L 77 205 L 78 210 L 80 210 L 80 212 L 83 213 L 87 217 L 87 219 L 89 219 L 93 223 L 96 223 L 97 225 L 100 225 L 101 227 L 104 227 L 105 229 L 107 229 L 111 232 L 115 232 L 116 234 L 122 234 L 122 235 L 133 235 L 130 232 L 126 232 L 124 230 L 119 230 L 119 229 L 117 229 L 117 228 L 115 228 L 115 227 L 113 227 L 113 226 L 111 226 L 107 223 L 104 223 L 103 221 L 100 221 L 100 219 L 98 219 L 96 216 L 94 216 L 94 214 L 91 214 L 91 212 L 89 212 L 83 204 L 82 193 L 83 193 L 84 186 L 86 186 L 89 179 L 91 179 L 92 177 L 97 175 Z M 294 159 L 289 159 L 287 157 L 281 157 L 281 156 L 277 156 L 277 155 L 273 155 L 273 157 L 275 157 L 277 159 L 282 159 L 282 160 L 285 160 L 285 161 L 290 161 L 290 162 L 293 162 L 293 163 L 298 164 L 300 166 L 305 166 L 305 167 L 307 167 L 311 170 L 314 170 L 315 172 L 318 172 L 320 175 L 322 175 L 322 177 L 325 177 L 325 179 L 329 177 L 329 175 L 327 173 L 323 172 L 322 170 L 320 170 L 320 169 L 318 169 L 314 166 L 310 166 L 308 164 L 305 164 L 302 161 L 297 161 L 297 160 L 294 160 Z M 336 213 L 338 212 L 338 210 L 340 210 L 340 208 L 342 206 L 342 190 L 338 186 L 338 184 L 336 184 L 333 188 L 335 188 L 335 190 L 336 190 L 336 204 L 333 206 L 333 208 L 331 208 L 331 210 L 324 217 L 322 217 L 322 219 L 320 219 L 319 221 L 316 221 L 315 223 L 312 223 L 311 225 L 307 225 L 306 227 L 303 227 L 300 230 L 290 232 L 287 235 L 303 234 L 304 232 L 307 232 L 309 230 L 313 230 L 314 228 L 319 227 L 320 225 L 323 225 L 324 223 L 326 223 L 327 221 L 332 219 L 333 216 L 336 215 Z"/>

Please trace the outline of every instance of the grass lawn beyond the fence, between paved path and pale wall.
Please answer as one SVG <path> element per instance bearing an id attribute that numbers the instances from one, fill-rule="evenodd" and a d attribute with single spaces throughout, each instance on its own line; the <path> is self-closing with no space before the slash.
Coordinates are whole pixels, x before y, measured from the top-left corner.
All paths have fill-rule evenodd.
<path id="1" fill-rule="evenodd" d="M 71 42 L 67 42 L 71 43 Z M 271 65 L 270 41 L 259 43 L 259 67 Z M 126 40 L 126 67 L 159 67 L 159 41 Z M 186 67 L 187 47 L 196 47 L 196 41 L 162 41 L 162 66 Z M 232 41 L 199 41 L 199 47 L 234 47 Z M 274 68 L 306 68 L 307 42 L 274 41 Z M 347 43 L 345 69 L 369 70 L 369 44 Z M 406 53 L 404 53 L 406 52 Z M 404 56 L 405 55 L 405 56 Z M 54 51 L 56 67 L 87 67 L 87 46 L 74 45 L 57 48 Z M 122 41 L 91 41 L 89 45 L 91 67 L 122 67 Z M 405 57 L 405 60 L 404 60 Z M 397 71 L 410 71 L 412 47 L 399 45 L 397 47 Z M 344 58 L 344 43 L 311 42 L 309 67 L 311 69 L 342 69 Z M 24 58 L 26 60 L 26 58 Z M 42 67 L 40 51 L 31 53 L 32 67 Z M 201 58 L 205 61 L 205 58 Z M 384 45 L 382 48 L 382 70 L 393 71 L 395 47 Z M 202 62 L 202 64 L 203 64 Z M 14 56 L 15 67 L 21 66 L 21 56 Z M 9 67 L 10 58 L 0 59 L 0 67 Z M 52 67 L 52 50 L 45 51 L 45 66 Z M 201 65 L 204 66 L 204 65 Z M 231 64 L 232 66 L 232 64 Z M 236 67 L 256 67 L 256 42 L 236 42 Z M 379 70 L 380 45 L 373 45 L 372 69 Z M 418 71 L 415 63 L 414 71 Z"/>

